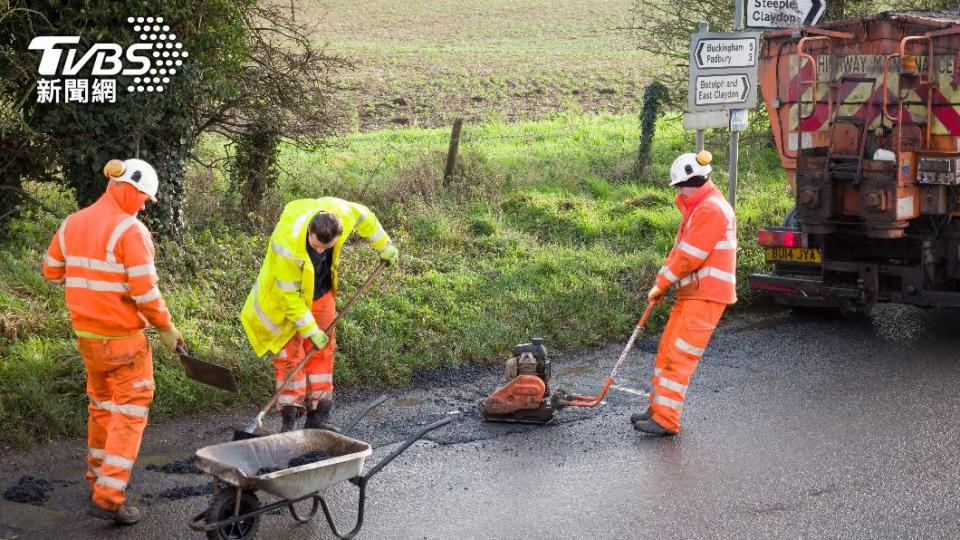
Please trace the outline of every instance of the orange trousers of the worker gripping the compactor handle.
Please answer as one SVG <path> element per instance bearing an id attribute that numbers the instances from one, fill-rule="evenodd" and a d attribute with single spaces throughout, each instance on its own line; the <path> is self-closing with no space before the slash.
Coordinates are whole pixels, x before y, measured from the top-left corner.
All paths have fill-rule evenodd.
<path id="1" fill-rule="evenodd" d="M 650 412 L 671 431 L 680 431 L 687 387 L 726 307 L 709 300 L 678 299 L 670 311 L 657 349 Z"/>

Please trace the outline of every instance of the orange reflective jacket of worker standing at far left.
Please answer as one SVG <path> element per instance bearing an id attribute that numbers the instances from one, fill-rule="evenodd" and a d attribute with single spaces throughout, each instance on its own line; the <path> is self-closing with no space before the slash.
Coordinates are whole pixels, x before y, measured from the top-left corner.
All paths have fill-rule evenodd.
<path id="1" fill-rule="evenodd" d="M 126 336 L 149 322 L 170 327 L 157 288 L 150 231 L 108 191 L 60 225 L 43 258 L 43 275 L 63 280 L 76 331 Z"/>

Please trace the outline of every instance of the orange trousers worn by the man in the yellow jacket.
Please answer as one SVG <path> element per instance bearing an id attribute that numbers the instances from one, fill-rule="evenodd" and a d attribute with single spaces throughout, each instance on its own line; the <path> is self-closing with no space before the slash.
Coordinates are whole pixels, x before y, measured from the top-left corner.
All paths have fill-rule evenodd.
<path id="1" fill-rule="evenodd" d="M 322 332 L 337 316 L 336 297 L 333 291 L 314 300 L 310 311 Z M 295 334 L 283 350 L 273 358 L 277 388 L 280 388 L 290 370 L 297 367 L 297 364 L 303 360 L 303 355 L 311 347 L 313 343 L 309 339 L 303 339 L 300 334 Z M 294 376 L 293 381 L 280 394 L 277 407 L 294 405 L 312 411 L 317 408 L 321 399 L 333 398 L 333 351 L 336 347 L 336 329 L 334 329 L 330 332 L 330 343 L 310 355 L 303 370 Z"/>

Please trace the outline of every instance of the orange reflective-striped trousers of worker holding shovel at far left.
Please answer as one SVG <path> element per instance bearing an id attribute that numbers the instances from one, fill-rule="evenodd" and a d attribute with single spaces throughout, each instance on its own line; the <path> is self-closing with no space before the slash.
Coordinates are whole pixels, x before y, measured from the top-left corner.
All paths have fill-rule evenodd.
<path id="1" fill-rule="evenodd" d="M 87 481 L 110 511 L 126 500 L 153 402 L 153 354 L 143 332 L 119 339 L 77 338 L 87 369 Z"/>

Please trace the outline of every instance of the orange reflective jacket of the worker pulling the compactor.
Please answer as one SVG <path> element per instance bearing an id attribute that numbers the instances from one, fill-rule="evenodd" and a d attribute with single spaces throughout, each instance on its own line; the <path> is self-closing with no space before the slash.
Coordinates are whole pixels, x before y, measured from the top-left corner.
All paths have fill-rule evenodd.
<path id="1" fill-rule="evenodd" d="M 677 196 L 683 220 L 657 274 L 657 287 L 679 282 L 678 299 L 737 301 L 737 219 L 720 190 L 707 181 L 689 197 Z"/>

